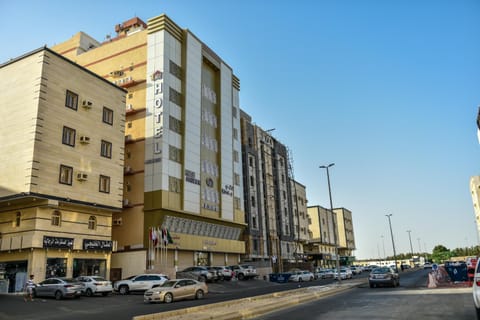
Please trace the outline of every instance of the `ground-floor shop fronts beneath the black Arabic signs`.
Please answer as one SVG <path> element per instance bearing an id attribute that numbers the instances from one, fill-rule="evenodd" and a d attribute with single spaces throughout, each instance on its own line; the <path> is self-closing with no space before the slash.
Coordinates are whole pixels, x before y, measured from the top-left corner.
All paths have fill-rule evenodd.
<path id="1" fill-rule="evenodd" d="M 33 274 L 35 282 L 52 277 L 99 275 L 108 278 L 111 252 L 23 249 L 0 252 L 0 292 L 20 292 Z"/>

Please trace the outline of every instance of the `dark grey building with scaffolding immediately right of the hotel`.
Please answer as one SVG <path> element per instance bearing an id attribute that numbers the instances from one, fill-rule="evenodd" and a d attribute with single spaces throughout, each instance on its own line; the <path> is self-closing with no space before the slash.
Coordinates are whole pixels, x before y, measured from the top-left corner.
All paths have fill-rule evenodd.
<path id="1" fill-rule="evenodd" d="M 244 259 L 274 272 L 284 271 L 284 265 L 296 261 L 302 250 L 295 231 L 299 220 L 294 214 L 303 209 L 294 209 L 288 149 L 271 130 L 255 125 L 243 111 L 241 126 L 248 225 Z M 299 184 L 303 195 L 300 189 Z"/>

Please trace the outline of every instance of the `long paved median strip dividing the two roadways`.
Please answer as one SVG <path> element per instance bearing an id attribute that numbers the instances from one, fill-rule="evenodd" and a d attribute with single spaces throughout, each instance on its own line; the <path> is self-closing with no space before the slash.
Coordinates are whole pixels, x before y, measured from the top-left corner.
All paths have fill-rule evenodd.
<path id="1" fill-rule="evenodd" d="M 275 292 L 262 296 L 231 300 L 198 307 L 160 312 L 149 315 L 136 316 L 133 320 L 237 320 L 251 319 L 263 314 L 289 308 L 297 304 L 309 302 L 334 295 L 338 292 L 365 284 L 368 279 L 342 281 L 341 284 L 332 283 L 325 286 L 314 286 Z"/>

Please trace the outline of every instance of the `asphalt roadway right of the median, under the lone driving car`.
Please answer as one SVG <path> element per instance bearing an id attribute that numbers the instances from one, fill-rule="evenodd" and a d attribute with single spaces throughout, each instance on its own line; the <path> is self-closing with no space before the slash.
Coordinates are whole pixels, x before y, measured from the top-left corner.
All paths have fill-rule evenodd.
<path id="1" fill-rule="evenodd" d="M 428 289 L 428 271 L 401 274 L 398 288 L 371 289 L 366 284 L 256 319 L 476 319 L 472 289 Z"/>

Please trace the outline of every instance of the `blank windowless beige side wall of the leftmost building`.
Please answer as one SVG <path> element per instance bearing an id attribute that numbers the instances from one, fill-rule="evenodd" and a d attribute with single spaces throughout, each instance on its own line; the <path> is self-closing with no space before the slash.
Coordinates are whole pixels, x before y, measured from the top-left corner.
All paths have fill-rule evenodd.
<path id="1" fill-rule="evenodd" d="M 39 53 L 0 68 L 0 197 L 30 189 L 42 61 Z"/>

